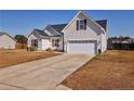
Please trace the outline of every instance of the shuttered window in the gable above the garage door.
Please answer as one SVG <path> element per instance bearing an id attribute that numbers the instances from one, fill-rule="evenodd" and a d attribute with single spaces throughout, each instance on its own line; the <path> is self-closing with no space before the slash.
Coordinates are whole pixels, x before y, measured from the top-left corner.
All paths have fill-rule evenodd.
<path id="1" fill-rule="evenodd" d="M 77 21 L 77 30 L 81 30 L 81 29 L 86 30 L 86 20 Z"/>

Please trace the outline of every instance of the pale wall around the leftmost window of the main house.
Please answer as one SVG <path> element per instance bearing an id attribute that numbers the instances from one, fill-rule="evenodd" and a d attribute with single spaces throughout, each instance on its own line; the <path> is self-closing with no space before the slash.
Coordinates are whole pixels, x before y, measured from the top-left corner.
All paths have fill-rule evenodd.
<path id="1" fill-rule="evenodd" d="M 28 47 L 31 47 L 31 40 L 32 39 L 38 39 L 35 35 L 30 35 L 28 37 Z M 42 42 L 41 42 L 41 39 L 38 39 L 38 50 L 41 50 L 42 49 Z"/>

